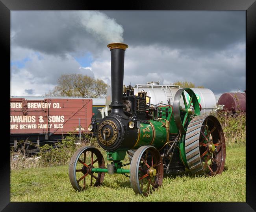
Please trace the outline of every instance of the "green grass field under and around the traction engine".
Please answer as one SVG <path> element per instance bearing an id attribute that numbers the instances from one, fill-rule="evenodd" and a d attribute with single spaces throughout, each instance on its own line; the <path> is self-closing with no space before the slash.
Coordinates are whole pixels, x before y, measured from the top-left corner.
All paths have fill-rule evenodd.
<path id="1" fill-rule="evenodd" d="M 164 177 L 162 186 L 147 197 L 136 195 L 128 177 L 106 174 L 104 184 L 76 192 L 68 165 L 11 171 L 11 202 L 245 202 L 245 145 L 226 149 L 224 172 L 214 177 Z"/>

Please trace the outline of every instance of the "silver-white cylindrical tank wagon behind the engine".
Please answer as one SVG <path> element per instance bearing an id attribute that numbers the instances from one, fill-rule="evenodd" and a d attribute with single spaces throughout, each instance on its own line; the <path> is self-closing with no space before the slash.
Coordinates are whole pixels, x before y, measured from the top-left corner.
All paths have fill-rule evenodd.
<path id="1" fill-rule="evenodd" d="M 177 85 L 160 85 L 159 82 L 147 82 L 147 84 L 137 84 L 134 87 L 134 95 L 138 92 L 144 90 L 147 95 L 151 97 L 150 104 L 171 104 L 173 105 L 173 100 L 176 92 L 180 89 Z M 216 98 L 214 93 L 208 88 L 191 88 L 197 96 L 199 104 L 202 106 L 201 115 L 209 114 L 216 109 Z M 189 95 L 186 96 L 186 101 L 189 101 Z M 147 99 L 149 102 L 149 99 Z M 108 88 L 106 97 L 106 108 L 102 109 L 102 113 L 108 113 L 111 104 L 111 88 Z M 182 102 L 181 102 L 182 105 Z M 184 105 L 182 105 L 184 106 Z"/>

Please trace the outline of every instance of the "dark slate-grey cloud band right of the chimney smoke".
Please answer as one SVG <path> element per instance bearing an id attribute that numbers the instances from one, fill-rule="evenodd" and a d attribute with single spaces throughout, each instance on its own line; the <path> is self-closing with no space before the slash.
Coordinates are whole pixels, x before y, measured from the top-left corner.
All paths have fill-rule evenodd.
<path id="1" fill-rule="evenodd" d="M 245 11 L 104 11 L 124 28 L 128 45 L 159 43 L 218 51 L 245 42 Z M 197 52 L 200 53 L 200 52 Z"/>

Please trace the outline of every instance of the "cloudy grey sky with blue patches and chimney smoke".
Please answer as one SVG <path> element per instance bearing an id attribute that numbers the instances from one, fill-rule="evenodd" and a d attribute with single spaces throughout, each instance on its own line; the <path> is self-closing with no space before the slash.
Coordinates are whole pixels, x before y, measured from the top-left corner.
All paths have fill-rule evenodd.
<path id="1" fill-rule="evenodd" d="M 11 11 L 10 95 L 41 96 L 62 74 L 111 84 L 111 42 L 128 44 L 124 84 L 189 81 L 246 90 L 245 11 Z"/>

